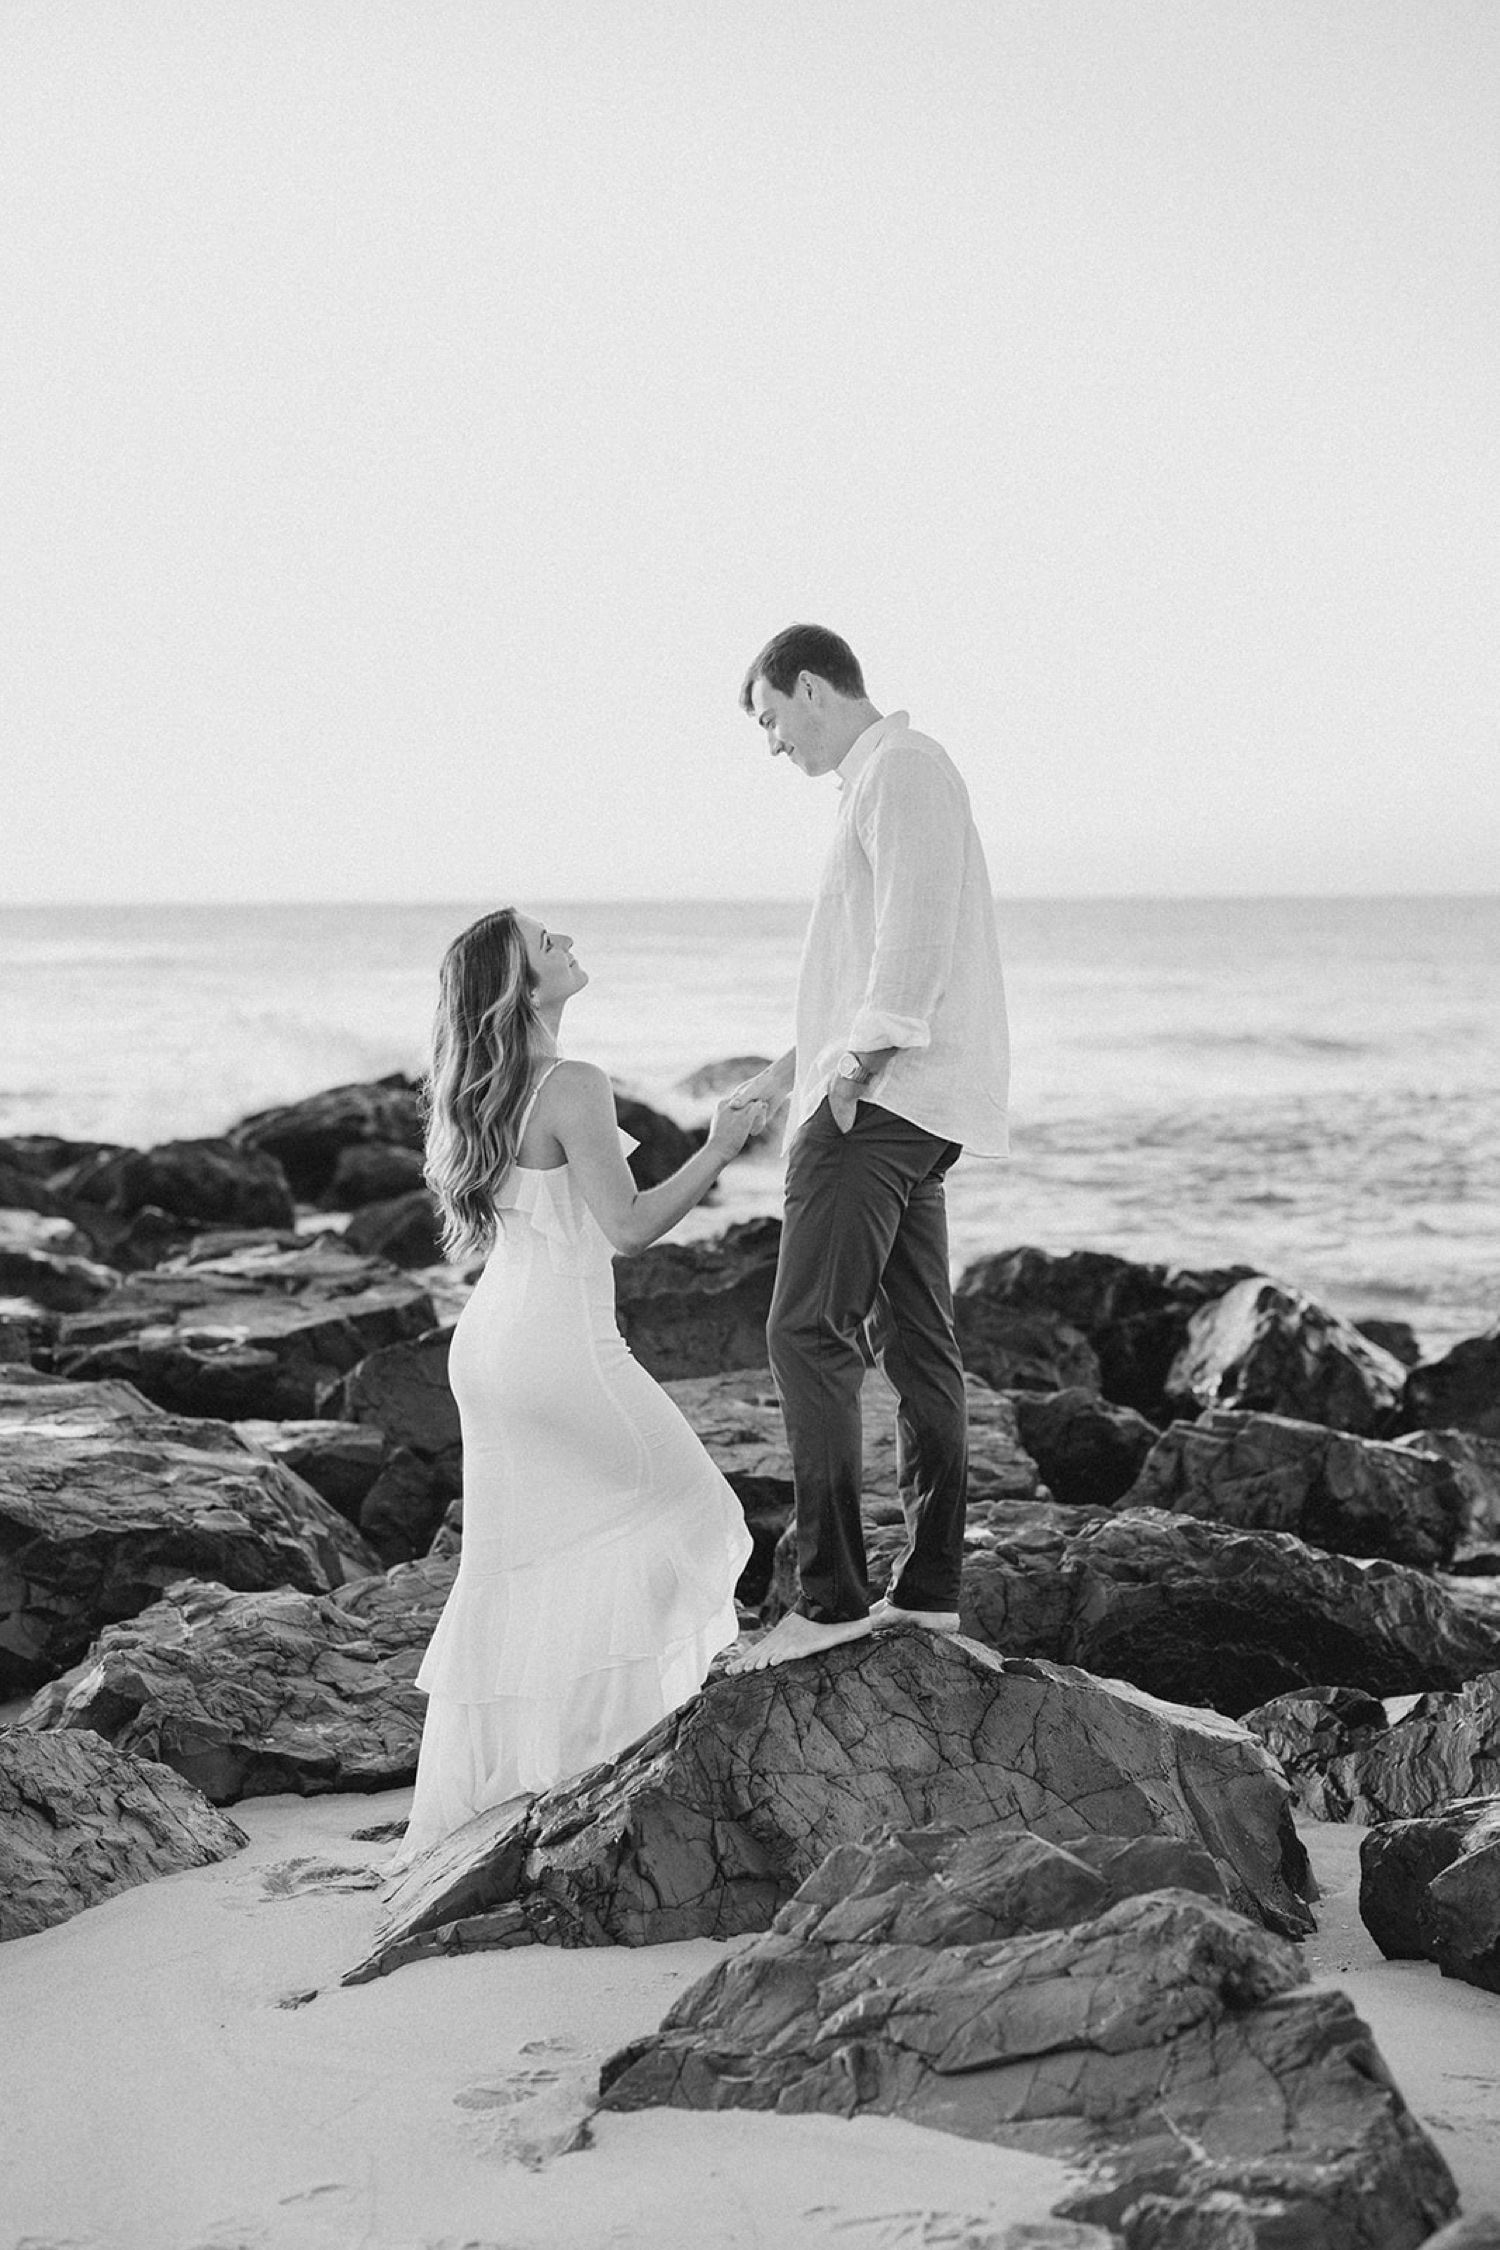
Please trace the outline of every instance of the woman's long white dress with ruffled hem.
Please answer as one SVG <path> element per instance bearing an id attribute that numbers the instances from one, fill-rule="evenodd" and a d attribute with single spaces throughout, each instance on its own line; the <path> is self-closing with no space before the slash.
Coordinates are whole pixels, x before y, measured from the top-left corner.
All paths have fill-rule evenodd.
<path id="1" fill-rule="evenodd" d="M 540 1087 L 537 1087 L 540 1091 Z M 463 1550 L 427 1645 L 396 1865 L 614 1757 L 738 1634 L 735 1494 L 614 1318 L 609 1240 L 567 1166 L 515 1166 L 454 1328 Z"/>

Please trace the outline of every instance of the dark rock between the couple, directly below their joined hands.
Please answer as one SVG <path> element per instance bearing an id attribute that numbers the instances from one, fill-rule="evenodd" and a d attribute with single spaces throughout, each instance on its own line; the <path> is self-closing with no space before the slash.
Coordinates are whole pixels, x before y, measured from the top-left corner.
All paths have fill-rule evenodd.
<path id="1" fill-rule="evenodd" d="M 657 1382 L 767 1364 L 780 1220 L 744 1220 L 711 1242 L 659 1242 L 616 1258 L 621 1334 Z"/>

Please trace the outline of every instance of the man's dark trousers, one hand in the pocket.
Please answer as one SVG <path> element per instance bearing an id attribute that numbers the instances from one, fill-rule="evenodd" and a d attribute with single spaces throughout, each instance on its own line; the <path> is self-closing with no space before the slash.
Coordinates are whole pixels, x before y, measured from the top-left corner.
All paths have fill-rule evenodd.
<path id="1" fill-rule="evenodd" d="M 942 1179 L 956 1141 L 823 1100 L 796 1136 L 767 1339 L 796 1483 L 798 1609 L 834 1624 L 870 1606 L 859 1523 L 861 1334 L 897 1395 L 906 1548 L 902 1609 L 958 1609 L 969 1420 L 954 1336 Z"/>

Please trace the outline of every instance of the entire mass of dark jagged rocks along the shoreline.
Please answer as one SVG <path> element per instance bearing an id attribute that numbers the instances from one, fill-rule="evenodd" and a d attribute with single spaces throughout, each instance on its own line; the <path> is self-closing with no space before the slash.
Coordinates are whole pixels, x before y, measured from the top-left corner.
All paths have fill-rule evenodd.
<path id="1" fill-rule="evenodd" d="M 690 1143 L 621 1107 L 636 1177 L 666 1177 Z M 236 1804 L 412 1780 L 463 1537 L 463 1282 L 418 1152 L 407 1080 L 218 1141 L 0 1143 L 0 1937 L 236 1854 Z M 618 1267 L 632 1350 L 744 1505 L 747 1629 L 792 1588 L 776 1240 Z M 1358 1822 L 1385 1955 L 1500 1996 L 1500 1323 L 1424 1361 L 1280 1276 L 1039 1249 L 974 1262 L 956 1305 L 963 1638 L 711 1678 L 416 1861 L 346 1982 L 740 1937 L 607 2063 L 603 2110 L 1066 2156 L 1057 2241 L 1500 2241 L 1451 2230 L 1370 2032 L 1304 1991 L 1293 1829 Z M 875 1372 L 866 1460 L 882 1586 Z"/>

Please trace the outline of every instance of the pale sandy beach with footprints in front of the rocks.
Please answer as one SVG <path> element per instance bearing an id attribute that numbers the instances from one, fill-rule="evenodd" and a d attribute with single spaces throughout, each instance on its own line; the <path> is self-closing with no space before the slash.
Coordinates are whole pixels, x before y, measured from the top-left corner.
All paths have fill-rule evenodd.
<path id="1" fill-rule="evenodd" d="M 999 2250 L 1061 2196 L 1061 2164 L 900 2122 L 659 2110 L 576 2146 L 600 2059 L 720 1948 L 526 1948 L 342 1989 L 391 1850 L 358 1832 L 407 1804 L 252 1800 L 234 1858 L 0 1951 L 4 2250 Z M 1309 1969 L 1374 2027 L 1464 2212 L 1500 2210 L 1500 1998 L 1383 1962 L 1361 1829 L 1304 1834 Z"/>

